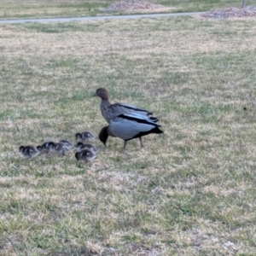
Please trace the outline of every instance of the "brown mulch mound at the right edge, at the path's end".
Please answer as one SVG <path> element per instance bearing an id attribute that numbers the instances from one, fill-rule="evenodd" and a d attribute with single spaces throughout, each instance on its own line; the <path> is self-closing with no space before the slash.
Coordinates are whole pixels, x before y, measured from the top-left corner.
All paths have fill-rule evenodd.
<path id="1" fill-rule="evenodd" d="M 216 9 L 201 15 L 201 17 L 206 18 L 207 20 L 256 17 L 256 6 L 247 6 L 242 9 L 235 7 Z"/>

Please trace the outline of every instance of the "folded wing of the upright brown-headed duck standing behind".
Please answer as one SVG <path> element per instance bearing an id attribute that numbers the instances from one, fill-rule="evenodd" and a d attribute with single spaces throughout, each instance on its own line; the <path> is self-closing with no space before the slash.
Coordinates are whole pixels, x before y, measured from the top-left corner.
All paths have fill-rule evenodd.
<path id="1" fill-rule="evenodd" d="M 125 104 L 125 103 L 113 103 L 110 105 L 110 108 L 112 110 L 112 114 L 114 117 L 118 116 L 120 113 L 139 113 L 143 115 L 150 115 L 153 114 L 152 112 L 145 110 L 143 108 L 137 108 L 136 106 L 133 106 L 131 104 Z"/>

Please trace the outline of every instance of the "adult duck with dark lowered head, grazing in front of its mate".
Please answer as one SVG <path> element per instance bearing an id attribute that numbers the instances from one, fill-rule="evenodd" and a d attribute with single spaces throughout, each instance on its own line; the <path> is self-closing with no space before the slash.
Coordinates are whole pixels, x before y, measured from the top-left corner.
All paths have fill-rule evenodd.
<path id="1" fill-rule="evenodd" d="M 163 133 L 159 129 L 160 125 L 139 114 L 120 114 L 114 118 L 108 126 L 102 128 L 99 139 L 106 146 L 108 136 L 119 137 L 126 142 L 134 138 L 139 138 L 143 148 L 142 137 L 150 133 Z"/>

